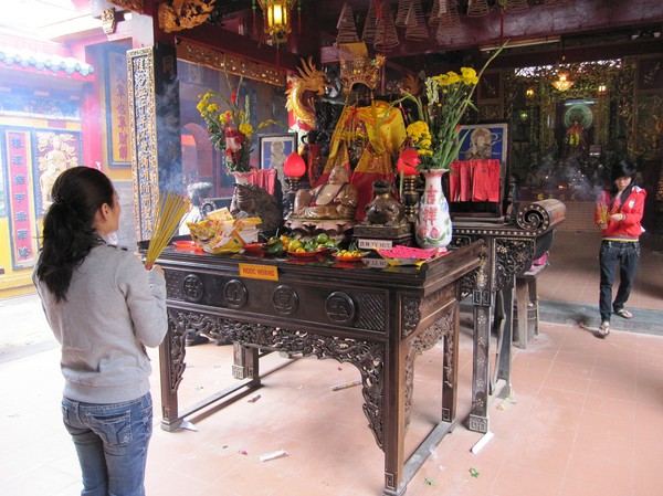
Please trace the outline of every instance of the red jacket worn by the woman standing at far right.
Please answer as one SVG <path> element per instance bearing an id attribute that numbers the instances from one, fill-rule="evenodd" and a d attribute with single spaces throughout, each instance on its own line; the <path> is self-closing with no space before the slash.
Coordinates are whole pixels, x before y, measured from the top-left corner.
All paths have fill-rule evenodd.
<path id="1" fill-rule="evenodd" d="M 634 186 L 631 193 L 622 205 L 618 205 L 614 202 L 612 209 L 612 198 L 610 192 L 603 191 L 597 208 L 594 211 L 594 221 L 597 224 L 604 223 L 604 219 L 614 214 L 623 213 L 625 219 L 623 221 L 611 221 L 608 220 L 608 226 L 601 231 L 601 238 L 603 240 L 625 240 L 625 241 L 638 241 L 640 235 L 644 232 L 642 229 L 642 214 L 644 212 L 644 199 L 646 191 L 642 188 Z"/>

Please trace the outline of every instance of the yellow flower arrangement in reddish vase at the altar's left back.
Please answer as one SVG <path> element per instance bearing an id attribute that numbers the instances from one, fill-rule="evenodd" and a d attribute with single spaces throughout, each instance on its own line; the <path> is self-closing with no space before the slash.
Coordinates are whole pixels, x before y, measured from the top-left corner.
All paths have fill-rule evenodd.
<path id="1" fill-rule="evenodd" d="M 274 120 L 265 120 L 253 129 L 251 124 L 251 106 L 249 96 L 243 103 L 238 99 L 242 85 L 242 78 L 236 89 L 231 88 L 230 99 L 220 93 L 208 91 L 200 97 L 198 112 L 207 124 L 212 146 L 223 152 L 223 162 L 227 172 L 233 175 L 240 182 L 251 172 L 251 151 L 253 150 L 253 137 L 255 131 Z"/>

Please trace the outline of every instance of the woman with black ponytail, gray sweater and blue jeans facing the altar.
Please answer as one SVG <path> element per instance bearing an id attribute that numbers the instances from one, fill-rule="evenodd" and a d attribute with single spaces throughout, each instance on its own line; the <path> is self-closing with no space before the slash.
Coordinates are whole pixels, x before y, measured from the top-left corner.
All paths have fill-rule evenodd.
<path id="1" fill-rule="evenodd" d="M 166 336 L 166 281 L 106 244 L 119 202 L 110 180 L 76 167 L 57 177 L 33 279 L 62 346 L 62 412 L 88 496 L 145 495 L 152 430 L 145 347 Z"/>

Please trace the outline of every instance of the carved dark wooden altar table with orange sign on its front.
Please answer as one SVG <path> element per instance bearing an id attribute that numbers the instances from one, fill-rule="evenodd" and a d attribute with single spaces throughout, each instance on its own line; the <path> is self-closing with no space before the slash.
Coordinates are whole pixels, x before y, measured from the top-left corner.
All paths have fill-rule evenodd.
<path id="1" fill-rule="evenodd" d="M 303 263 L 167 249 L 157 261 L 166 271 L 169 318 L 160 347 L 161 426 L 176 430 L 192 413 L 179 411 L 177 392 L 191 330 L 233 341 L 233 376 L 243 387 L 260 383 L 260 350 L 349 362 L 361 374 L 364 413 L 385 453 L 383 495 L 404 494 L 430 447 L 455 424 L 459 300 L 462 287 L 474 284 L 483 244 L 420 268 L 349 270 L 326 257 Z M 414 359 L 440 339 L 442 422 L 406 460 Z"/>

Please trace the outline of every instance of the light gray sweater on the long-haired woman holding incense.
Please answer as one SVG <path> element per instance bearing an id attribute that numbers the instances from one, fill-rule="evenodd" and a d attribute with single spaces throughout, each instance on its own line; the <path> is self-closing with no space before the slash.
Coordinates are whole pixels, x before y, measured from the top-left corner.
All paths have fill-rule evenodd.
<path id="1" fill-rule="evenodd" d="M 55 303 L 33 277 L 46 319 L 62 345 L 64 395 L 86 403 L 136 400 L 149 391 L 145 347 L 166 336 L 166 281 L 136 254 L 95 246 L 74 270 L 67 300 Z"/>

